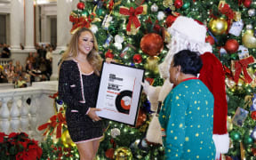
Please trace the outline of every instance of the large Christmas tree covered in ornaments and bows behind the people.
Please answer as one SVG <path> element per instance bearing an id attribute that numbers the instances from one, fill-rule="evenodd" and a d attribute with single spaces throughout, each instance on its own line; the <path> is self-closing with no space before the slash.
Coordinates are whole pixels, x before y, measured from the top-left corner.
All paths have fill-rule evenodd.
<path id="1" fill-rule="evenodd" d="M 70 13 L 77 28 L 91 28 L 102 58 L 145 68 L 145 78 L 163 85 L 158 64 L 168 52 L 167 28 L 179 15 L 198 20 L 208 28 L 206 41 L 226 72 L 228 132 L 226 159 L 256 156 L 256 2 L 252 0 L 87 0 Z M 109 122 L 101 140 L 100 159 L 163 159 L 164 147 L 145 140 L 152 111 L 142 93 L 135 127 Z M 65 137 L 65 136 L 64 136 Z M 48 141 L 49 142 L 49 141 Z M 44 155 L 44 154 L 43 154 Z"/>

